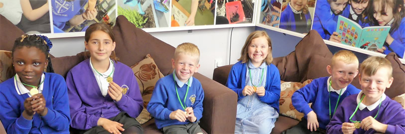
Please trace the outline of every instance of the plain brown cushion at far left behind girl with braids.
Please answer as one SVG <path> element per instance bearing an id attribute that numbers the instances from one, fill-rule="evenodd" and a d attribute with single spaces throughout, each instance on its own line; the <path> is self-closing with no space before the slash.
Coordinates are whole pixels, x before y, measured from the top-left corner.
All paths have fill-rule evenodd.
<path id="1" fill-rule="evenodd" d="M 16 38 L 21 37 L 24 32 L 12 24 L 7 18 L 0 15 L 0 50 L 11 51 Z"/>

